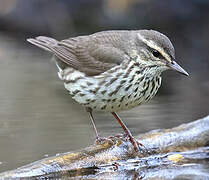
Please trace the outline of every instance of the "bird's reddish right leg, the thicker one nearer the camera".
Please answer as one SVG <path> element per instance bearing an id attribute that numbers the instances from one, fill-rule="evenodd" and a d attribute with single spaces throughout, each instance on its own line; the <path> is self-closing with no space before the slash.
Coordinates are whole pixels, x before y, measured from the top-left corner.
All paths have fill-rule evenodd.
<path id="1" fill-rule="evenodd" d="M 119 124 L 123 128 L 126 136 L 129 138 L 130 142 L 133 144 L 134 150 L 136 152 L 138 152 L 139 151 L 139 146 L 144 146 L 144 145 L 135 140 L 135 138 L 132 136 L 132 134 L 129 131 L 129 129 L 126 127 L 124 122 L 121 120 L 121 118 L 115 112 L 112 112 L 112 115 L 115 117 L 115 119 L 117 119 L 117 121 L 119 122 Z"/>

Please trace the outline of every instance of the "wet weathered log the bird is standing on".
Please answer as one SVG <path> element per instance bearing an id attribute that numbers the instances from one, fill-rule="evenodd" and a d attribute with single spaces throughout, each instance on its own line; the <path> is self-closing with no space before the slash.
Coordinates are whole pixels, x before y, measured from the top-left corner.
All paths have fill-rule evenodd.
<path id="1" fill-rule="evenodd" d="M 172 129 L 150 131 L 137 136 L 136 139 L 148 152 L 136 153 L 125 137 L 112 137 L 112 143 L 107 141 L 77 152 L 45 158 L 1 173 L 0 179 L 64 176 L 69 178 L 86 175 L 91 179 L 95 178 L 95 173 L 99 177 L 98 172 L 99 175 L 102 172 L 105 179 L 109 171 L 112 171 L 111 175 L 121 177 L 121 169 L 125 172 L 124 169 L 135 167 L 136 164 L 138 168 L 161 165 L 162 170 L 162 165 L 185 162 L 189 155 L 194 157 L 194 153 L 197 152 L 208 158 L 209 150 L 206 146 L 209 145 L 209 116 Z M 130 166 L 134 163 L 134 166 Z"/>

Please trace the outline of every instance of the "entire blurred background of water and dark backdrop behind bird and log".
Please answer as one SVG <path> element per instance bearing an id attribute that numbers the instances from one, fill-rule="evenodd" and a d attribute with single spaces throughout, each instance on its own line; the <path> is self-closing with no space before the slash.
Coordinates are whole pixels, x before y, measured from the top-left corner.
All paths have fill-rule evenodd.
<path id="1" fill-rule="evenodd" d="M 26 38 L 112 29 L 166 34 L 190 77 L 165 72 L 153 100 L 120 113 L 137 135 L 209 113 L 208 20 L 208 0 L 1 0 L 0 172 L 94 142 L 88 114 L 64 89 L 51 55 Z M 95 118 L 102 136 L 122 132 L 110 114 Z"/>

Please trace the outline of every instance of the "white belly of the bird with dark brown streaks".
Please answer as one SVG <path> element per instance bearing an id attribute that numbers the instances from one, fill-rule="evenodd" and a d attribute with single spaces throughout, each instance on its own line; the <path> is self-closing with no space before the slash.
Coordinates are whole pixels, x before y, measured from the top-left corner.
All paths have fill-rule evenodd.
<path id="1" fill-rule="evenodd" d="M 141 75 L 133 77 L 86 77 L 82 72 L 68 69 L 65 88 L 79 104 L 97 111 L 121 111 L 150 100 L 161 84 L 161 77 L 145 80 Z M 68 77 L 68 78 L 67 78 Z"/>

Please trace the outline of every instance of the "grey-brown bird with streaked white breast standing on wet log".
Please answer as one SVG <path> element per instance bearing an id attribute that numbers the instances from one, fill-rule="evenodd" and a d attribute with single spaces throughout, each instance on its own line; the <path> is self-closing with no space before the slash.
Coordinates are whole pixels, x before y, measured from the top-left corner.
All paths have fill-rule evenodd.
<path id="1" fill-rule="evenodd" d="M 161 86 L 162 72 L 189 74 L 175 60 L 169 38 L 155 30 L 107 30 L 58 41 L 51 37 L 28 42 L 53 54 L 58 76 L 72 98 L 89 113 L 96 141 L 94 111 L 111 113 L 136 152 L 138 142 L 118 112 L 144 104 Z"/>

